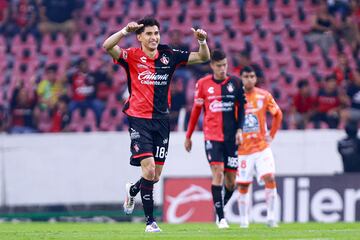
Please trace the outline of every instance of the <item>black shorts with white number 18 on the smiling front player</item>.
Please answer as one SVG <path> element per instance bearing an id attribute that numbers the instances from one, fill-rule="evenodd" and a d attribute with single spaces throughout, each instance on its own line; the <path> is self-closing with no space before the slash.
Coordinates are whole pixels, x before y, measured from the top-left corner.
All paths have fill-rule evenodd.
<path id="1" fill-rule="evenodd" d="M 128 116 L 131 139 L 130 164 L 141 166 L 141 160 L 154 157 L 155 164 L 164 165 L 169 146 L 169 119 L 145 119 Z"/>

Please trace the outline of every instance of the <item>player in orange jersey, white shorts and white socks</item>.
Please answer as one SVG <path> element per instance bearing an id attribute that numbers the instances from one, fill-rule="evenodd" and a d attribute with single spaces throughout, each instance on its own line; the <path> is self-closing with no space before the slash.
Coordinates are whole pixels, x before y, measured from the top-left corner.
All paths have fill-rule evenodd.
<path id="1" fill-rule="evenodd" d="M 271 94 L 255 87 L 256 75 L 254 69 L 244 67 L 240 72 L 245 96 L 245 121 L 243 127 L 243 142 L 239 146 L 239 168 L 236 182 L 240 197 L 238 199 L 240 211 L 240 227 L 249 227 L 248 189 L 256 174 L 260 184 L 265 184 L 265 198 L 267 205 L 267 224 L 277 227 L 275 219 L 275 205 L 277 199 L 275 182 L 274 158 L 269 147 L 274 139 L 282 120 L 282 112 Z M 272 115 L 270 132 L 266 127 L 266 113 Z"/>

